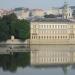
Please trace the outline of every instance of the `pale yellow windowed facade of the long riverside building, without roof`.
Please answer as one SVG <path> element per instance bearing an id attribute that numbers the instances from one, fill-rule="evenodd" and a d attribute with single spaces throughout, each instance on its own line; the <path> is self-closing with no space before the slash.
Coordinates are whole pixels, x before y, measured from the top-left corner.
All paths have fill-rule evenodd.
<path id="1" fill-rule="evenodd" d="M 31 22 L 30 44 L 75 44 L 75 22 Z"/>

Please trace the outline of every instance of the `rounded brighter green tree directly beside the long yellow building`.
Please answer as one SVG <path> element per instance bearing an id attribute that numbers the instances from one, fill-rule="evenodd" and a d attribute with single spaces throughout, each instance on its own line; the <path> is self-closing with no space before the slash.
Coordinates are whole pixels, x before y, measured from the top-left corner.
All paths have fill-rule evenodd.
<path id="1" fill-rule="evenodd" d="M 17 20 L 15 23 L 16 37 L 25 40 L 30 37 L 30 24 L 27 20 Z"/>

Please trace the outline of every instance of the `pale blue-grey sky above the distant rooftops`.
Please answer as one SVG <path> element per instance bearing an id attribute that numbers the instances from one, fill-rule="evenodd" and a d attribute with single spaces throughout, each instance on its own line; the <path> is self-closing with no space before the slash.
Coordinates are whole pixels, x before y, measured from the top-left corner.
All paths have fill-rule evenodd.
<path id="1" fill-rule="evenodd" d="M 0 0 L 0 8 L 50 8 L 61 7 L 65 0 Z M 69 5 L 75 5 L 75 0 L 67 0 Z"/>

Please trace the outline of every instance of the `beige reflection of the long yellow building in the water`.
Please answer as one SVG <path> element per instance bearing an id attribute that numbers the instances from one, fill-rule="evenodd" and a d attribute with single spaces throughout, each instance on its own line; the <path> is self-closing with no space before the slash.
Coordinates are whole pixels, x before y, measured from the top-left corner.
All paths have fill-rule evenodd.
<path id="1" fill-rule="evenodd" d="M 31 65 L 66 65 L 75 63 L 74 45 L 31 45 Z"/>

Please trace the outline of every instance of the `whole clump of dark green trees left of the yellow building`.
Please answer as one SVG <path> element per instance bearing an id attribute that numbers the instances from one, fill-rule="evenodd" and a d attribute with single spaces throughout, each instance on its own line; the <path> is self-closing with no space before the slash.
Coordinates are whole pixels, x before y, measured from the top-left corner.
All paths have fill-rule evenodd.
<path id="1" fill-rule="evenodd" d="M 29 39 L 30 22 L 17 19 L 15 14 L 5 15 L 0 18 L 0 41 L 10 39 L 11 35 L 20 40 Z"/>

